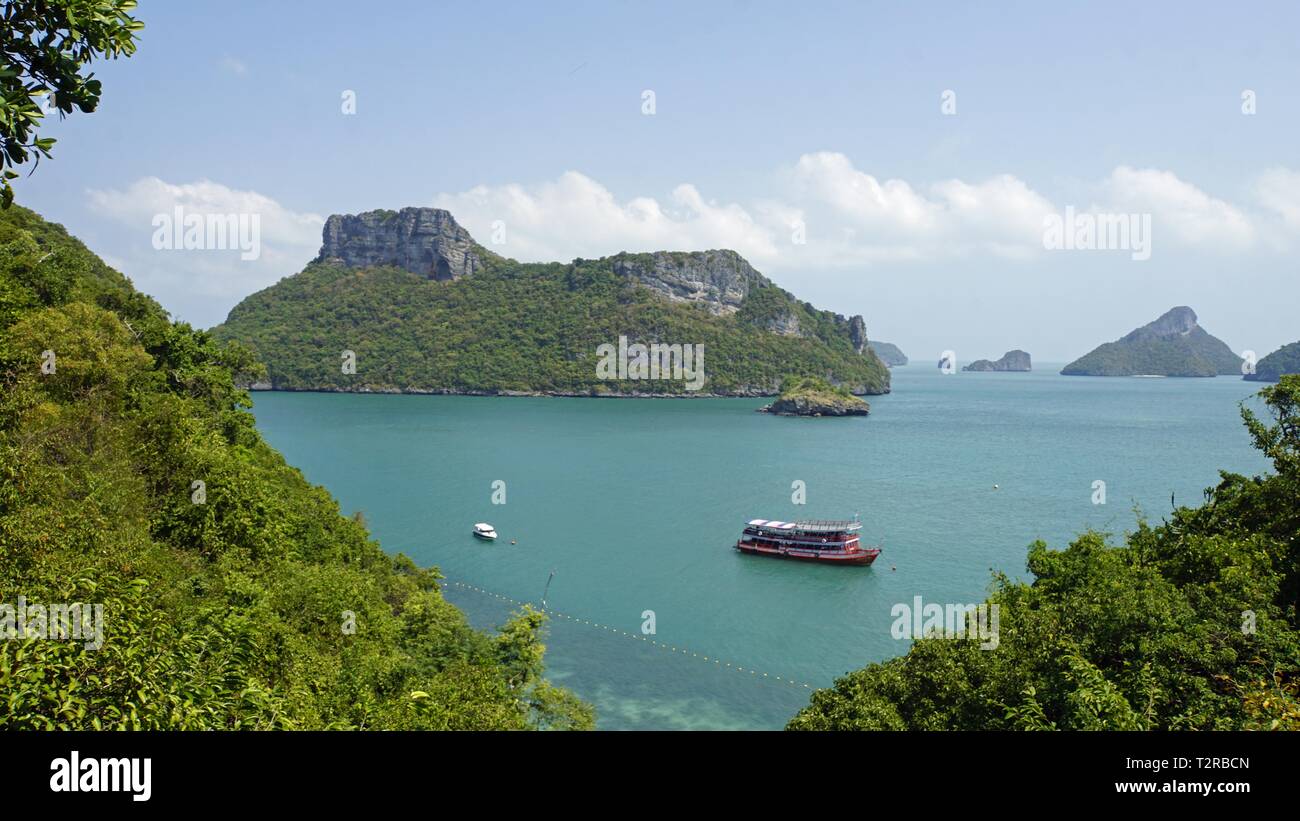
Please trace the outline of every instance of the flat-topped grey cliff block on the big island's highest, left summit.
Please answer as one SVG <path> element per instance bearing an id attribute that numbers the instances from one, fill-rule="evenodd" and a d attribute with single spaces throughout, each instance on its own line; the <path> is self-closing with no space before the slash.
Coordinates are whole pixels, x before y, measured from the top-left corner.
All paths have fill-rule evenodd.
<path id="1" fill-rule="evenodd" d="M 368 210 L 325 221 L 317 262 L 351 268 L 394 265 L 439 282 L 468 277 L 484 266 L 469 231 L 441 208 Z"/>

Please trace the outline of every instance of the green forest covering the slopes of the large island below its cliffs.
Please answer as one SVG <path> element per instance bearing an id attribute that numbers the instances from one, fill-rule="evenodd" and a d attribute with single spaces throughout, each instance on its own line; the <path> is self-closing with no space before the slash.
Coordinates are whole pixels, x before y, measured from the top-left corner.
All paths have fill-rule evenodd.
<path id="1" fill-rule="evenodd" d="M 213 329 L 251 348 L 289 390 L 684 394 L 684 381 L 602 381 L 597 347 L 663 342 L 705 348 L 701 394 L 772 394 L 785 374 L 829 374 L 864 392 L 889 374 L 858 353 L 842 318 L 775 286 L 755 287 L 718 317 L 672 303 L 614 272 L 620 257 L 519 264 L 500 257 L 455 282 L 395 268 L 326 262 L 254 294 Z M 801 336 L 764 330 L 794 316 Z M 356 353 L 356 373 L 341 368 Z"/>

